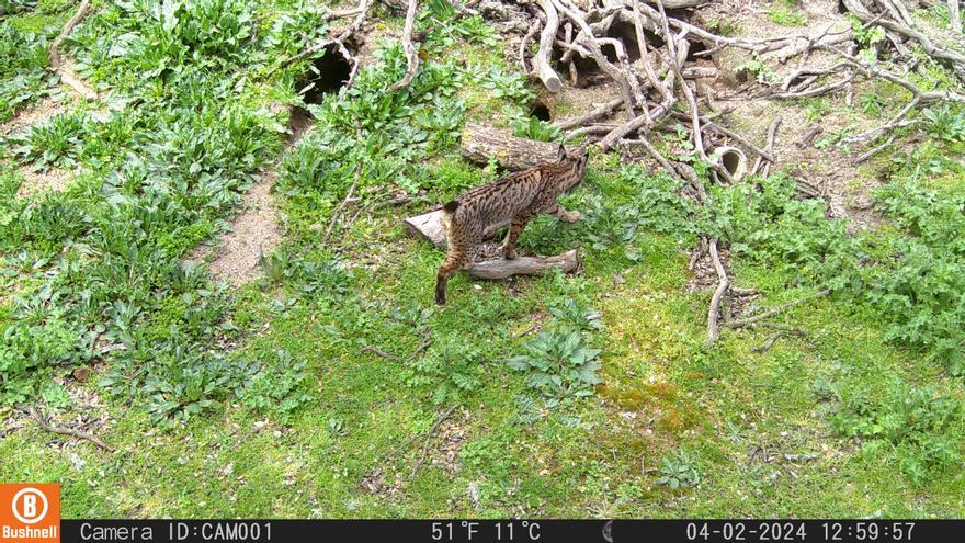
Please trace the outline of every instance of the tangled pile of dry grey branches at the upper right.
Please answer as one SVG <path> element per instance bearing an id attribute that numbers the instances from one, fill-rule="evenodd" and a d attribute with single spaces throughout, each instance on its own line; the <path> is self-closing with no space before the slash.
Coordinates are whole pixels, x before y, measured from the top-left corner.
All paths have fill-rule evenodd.
<path id="1" fill-rule="evenodd" d="M 768 142 L 763 148 L 749 139 L 716 123 L 717 109 L 712 95 L 700 95 L 701 87 L 695 80 L 713 75 L 713 68 L 688 66 L 689 59 L 707 57 L 725 48 L 751 52 L 761 58 L 777 63 L 796 63 L 797 68 L 783 81 L 772 83 L 758 81 L 757 88 L 745 90 L 758 98 L 794 99 L 818 97 L 831 93 L 849 93 L 859 79 L 882 79 L 907 90 L 910 99 L 890 120 L 862 134 L 843 138 L 839 145 L 877 146 L 856 157 L 855 161 L 866 160 L 894 140 L 897 128 L 917 123 L 909 115 L 927 104 L 950 101 L 965 102 L 965 95 L 952 91 L 924 91 L 906 77 L 918 64 L 911 55 L 912 47 L 920 47 L 938 63 L 950 69 L 965 82 L 965 57 L 942 47 L 939 41 L 922 29 L 916 27 L 901 0 L 843 0 L 842 7 L 861 23 L 862 32 L 879 26 L 886 39 L 875 44 L 879 57 L 889 60 L 889 68 L 882 63 L 870 63 L 855 52 L 859 44 L 852 29 L 811 30 L 793 35 L 770 38 L 729 37 L 715 34 L 689 22 L 689 14 L 702 0 L 601 0 L 597 2 L 576 2 L 575 0 L 534 0 L 524 4 L 522 12 L 529 13 L 531 30 L 522 41 L 520 61 L 523 69 L 538 78 L 549 92 L 563 88 L 559 72 L 565 70 L 570 82 L 576 84 L 580 67 L 576 58 L 591 60 L 592 69 L 605 75 L 620 89 L 620 98 L 579 118 L 559 126 L 570 131 L 570 135 L 588 135 L 603 149 L 617 145 L 640 146 L 663 168 L 685 180 L 690 194 L 699 202 L 705 202 L 706 192 L 693 170 L 683 163 L 662 156 L 648 140 L 648 133 L 663 123 L 684 123 L 699 156 L 709 163 L 714 182 L 733 183 L 743 173 L 742 154 L 728 160 L 726 152 L 712 152 L 722 145 L 731 152 L 746 149 L 754 157 L 752 173 L 767 174 L 773 142 L 781 124 L 780 116 L 768 131 Z M 953 19 L 953 31 L 961 26 L 958 2 L 949 0 Z M 671 10 L 672 14 L 668 14 Z M 520 11 L 516 12 L 519 14 Z M 636 52 L 628 50 L 618 33 L 611 32 L 615 24 L 632 24 L 635 33 Z M 527 39 L 538 32 L 538 52 L 526 58 Z M 614 37 L 617 36 L 617 37 Z M 609 50 L 606 50 L 609 49 Z M 836 58 L 830 67 L 810 67 L 808 60 L 816 52 Z M 631 61 L 636 57 L 637 61 Z M 587 66 L 586 63 L 582 66 Z M 686 114 L 674 111 L 682 101 Z M 594 124 L 601 117 L 622 113 L 623 121 L 613 124 Z M 807 192 L 807 191 L 804 191 Z M 718 278 L 707 312 L 707 342 L 713 343 L 719 333 L 720 306 L 727 296 L 739 297 L 731 289 L 727 271 L 720 261 L 716 239 L 702 240 L 703 250 L 709 254 Z M 700 251 L 700 249 L 699 249 Z M 729 325 L 728 325 L 729 326 Z"/>

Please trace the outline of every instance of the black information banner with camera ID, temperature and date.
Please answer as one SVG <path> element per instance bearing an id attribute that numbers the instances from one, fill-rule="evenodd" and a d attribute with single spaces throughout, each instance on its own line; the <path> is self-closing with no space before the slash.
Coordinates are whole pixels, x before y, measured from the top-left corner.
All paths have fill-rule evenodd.
<path id="1" fill-rule="evenodd" d="M 962 520 L 64 520 L 63 541 L 158 543 L 962 541 Z"/>

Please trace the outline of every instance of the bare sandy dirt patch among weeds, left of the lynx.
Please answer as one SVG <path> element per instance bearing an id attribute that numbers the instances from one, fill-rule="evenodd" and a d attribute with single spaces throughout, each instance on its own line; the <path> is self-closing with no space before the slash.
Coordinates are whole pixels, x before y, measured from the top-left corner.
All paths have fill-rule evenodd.
<path id="1" fill-rule="evenodd" d="M 245 193 L 242 212 L 231 223 L 231 231 L 220 239 L 220 246 L 201 246 L 189 260 L 207 261 L 216 280 L 236 286 L 256 279 L 261 257 L 271 253 L 282 239 L 271 195 L 276 178 L 273 171 L 263 173 Z"/>

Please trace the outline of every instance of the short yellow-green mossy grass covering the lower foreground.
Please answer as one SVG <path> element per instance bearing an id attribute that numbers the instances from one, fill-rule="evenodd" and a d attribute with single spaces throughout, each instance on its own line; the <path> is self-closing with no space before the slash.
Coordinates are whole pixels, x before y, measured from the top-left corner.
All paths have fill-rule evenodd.
<path id="1" fill-rule="evenodd" d="M 475 105 L 470 115 L 498 114 L 499 105 L 485 93 L 480 89 L 466 97 Z M 594 158 L 591 178 L 569 196 L 571 208 L 581 210 L 593 194 L 612 203 L 633 201 L 636 193 L 609 162 Z M 431 170 L 446 178 L 433 190 L 440 197 L 456 190 L 452 171 L 481 173 L 457 158 L 442 165 Z M 325 253 L 306 227 L 326 219 L 304 202 L 279 197 L 293 222 L 290 247 Z M 87 443 L 60 451 L 48 445 L 49 434 L 27 427 L 0 441 L 0 479 L 60 482 L 68 517 L 965 512 L 961 470 L 913 484 L 896 476 L 889 451 L 862 449 L 828 426 L 829 406 L 815 394 L 815 382 L 842 373 L 860 374 L 871 388 L 893 386 L 895 378 L 939 382 L 965 399 L 961 380 L 944 377 L 922 357 L 888 347 L 865 308 L 817 302 L 786 316 L 809 338 L 782 338 L 758 354 L 751 349 L 769 330 L 725 332 L 707 351 L 702 344 L 709 293 L 685 289 L 689 272 L 681 248 L 692 239 L 642 231 L 628 247 L 594 250 L 575 234 L 582 230 L 547 218 L 527 230 L 524 247 L 555 252 L 581 245 L 581 274 L 481 283 L 478 290 L 459 276 L 451 282 L 450 306 L 429 317 L 430 354 L 478 350 L 481 384 L 459 395 L 461 407 L 450 420 L 455 428 L 443 425 L 446 437 L 464 437 L 454 441 L 455 461 L 434 464 L 443 459 L 434 441 L 410 479 L 421 442 L 398 448 L 427 430 L 451 401 L 434 405 L 433 387 L 413 386 L 409 366 L 359 353 L 362 346 L 375 344 L 405 355 L 420 343 L 420 336 L 390 313 L 430 307 L 431 278 L 442 254 L 402 235 L 399 219 L 405 215 L 363 214 L 352 226 L 345 245 L 357 245 L 343 256 L 355 263 L 348 297 L 307 295 L 297 281 L 252 284 L 235 296 L 231 318 L 243 331 L 243 355 L 268 359 L 282 348 L 308 363 L 314 399 L 291 425 L 272 420 L 259 429 L 256 422 L 265 419 L 263 414 L 229 400 L 211 415 L 161 431 L 151 428 L 140 398 L 133 406 L 114 400 L 109 412 L 115 422 L 103 438 L 117 453 Z M 615 280 L 617 274 L 625 281 Z M 765 304 L 807 292 L 786 290 L 792 276 L 751 263 L 735 267 L 737 284 L 759 286 Z M 515 398 L 526 387 L 503 361 L 521 351 L 526 338 L 514 335 L 530 327 L 533 315 L 545 315 L 567 297 L 602 312 L 605 328 L 592 342 L 604 350 L 604 384 L 595 396 L 566 410 L 579 417 L 579 425 L 555 411 L 521 425 Z M 98 391 L 94 382 L 83 386 Z M 958 421 L 950 433 L 962 430 Z M 702 482 L 670 490 L 656 484 L 659 474 L 652 470 L 680 445 L 697 459 Z M 761 462 L 752 457 L 759 449 L 815 459 Z M 374 472 L 391 489 L 363 489 L 360 479 Z"/>

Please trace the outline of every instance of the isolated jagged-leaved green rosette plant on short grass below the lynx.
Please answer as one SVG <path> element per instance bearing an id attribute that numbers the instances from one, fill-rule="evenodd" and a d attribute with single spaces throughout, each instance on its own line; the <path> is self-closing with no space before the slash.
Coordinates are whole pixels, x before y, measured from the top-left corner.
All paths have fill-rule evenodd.
<path id="1" fill-rule="evenodd" d="M 597 375 L 601 351 L 590 349 L 577 330 L 544 330 L 524 349 L 526 354 L 509 359 L 507 365 L 525 372 L 526 384 L 540 392 L 549 407 L 591 396 L 593 386 L 601 382 Z"/>

